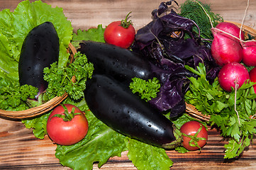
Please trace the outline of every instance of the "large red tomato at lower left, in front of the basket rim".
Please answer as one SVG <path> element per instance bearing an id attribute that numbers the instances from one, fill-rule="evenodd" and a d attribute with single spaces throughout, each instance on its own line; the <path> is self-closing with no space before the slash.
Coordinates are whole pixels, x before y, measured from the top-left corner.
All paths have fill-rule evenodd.
<path id="1" fill-rule="evenodd" d="M 76 106 L 57 106 L 48 118 L 48 136 L 59 145 L 73 145 L 82 140 L 88 132 L 88 121 Z"/>

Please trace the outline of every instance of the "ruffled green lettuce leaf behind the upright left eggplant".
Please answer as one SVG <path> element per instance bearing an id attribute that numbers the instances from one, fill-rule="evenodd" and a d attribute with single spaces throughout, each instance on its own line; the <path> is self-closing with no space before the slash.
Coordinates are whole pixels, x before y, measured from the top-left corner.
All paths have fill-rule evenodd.
<path id="1" fill-rule="evenodd" d="M 18 60 L 26 35 L 35 26 L 50 21 L 55 26 L 60 38 L 59 67 L 68 62 L 67 47 L 72 40 L 72 25 L 67 21 L 62 8 L 42 1 L 22 1 L 11 12 L 5 9 L 0 12 L 0 77 L 18 81 Z"/>

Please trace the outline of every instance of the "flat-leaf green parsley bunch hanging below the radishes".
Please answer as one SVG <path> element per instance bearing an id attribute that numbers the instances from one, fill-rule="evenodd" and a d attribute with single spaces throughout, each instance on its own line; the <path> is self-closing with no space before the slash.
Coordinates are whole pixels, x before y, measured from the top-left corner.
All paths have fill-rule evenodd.
<path id="1" fill-rule="evenodd" d="M 221 135 L 228 139 L 226 148 L 226 159 L 238 157 L 245 147 L 250 145 L 252 137 L 256 133 L 255 97 L 252 83 L 246 84 L 228 93 L 223 91 L 216 79 L 213 84 L 206 80 L 206 68 L 204 64 L 193 69 L 186 66 L 189 71 L 199 75 L 196 79 L 189 77 L 191 81 L 190 89 L 185 96 L 185 101 L 196 107 L 198 111 L 205 115 L 211 115 L 209 123 L 217 125 L 221 130 Z"/>

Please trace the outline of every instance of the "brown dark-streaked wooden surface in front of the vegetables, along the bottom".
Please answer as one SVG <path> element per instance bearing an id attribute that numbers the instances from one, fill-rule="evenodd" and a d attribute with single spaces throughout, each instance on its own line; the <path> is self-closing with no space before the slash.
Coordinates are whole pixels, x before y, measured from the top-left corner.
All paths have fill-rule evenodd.
<path id="1" fill-rule="evenodd" d="M 254 141 L 256 142 L 256 140 Z M 181 154 L 167 151 L 174 162 L 173 169 L 256 169 L 256 146 L 245 149 L 239 159 L 225 160 L 224 148 L 227 142 L 216 129 L 209 130 L 208 144 L 201 153 Z M 19 121 L 0 119 L 0 169 L 69 169 L 62 167 L 55 158 L 56 145 L 45 136 L 36 139 L 32 130 L 28 130 Z M 126 156 L 113 157 L 101 169 L 136 169 Z M 94 169 L 98 169 L 94 164 Z"/>

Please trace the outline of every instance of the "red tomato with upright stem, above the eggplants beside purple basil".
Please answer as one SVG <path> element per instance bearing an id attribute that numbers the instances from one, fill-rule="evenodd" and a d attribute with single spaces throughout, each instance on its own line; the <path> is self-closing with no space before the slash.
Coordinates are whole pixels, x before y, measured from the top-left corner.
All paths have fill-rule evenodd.
<path id="1" fill-rule="evenodd" d="M 128 15 L 125 20 L 114 21 L 106 27 L 104 31 L 104 40 L 106 43 L 123 48 L 128 48 L 133 44 L 135 29 L 131 21 L 127 21 Z"/>

